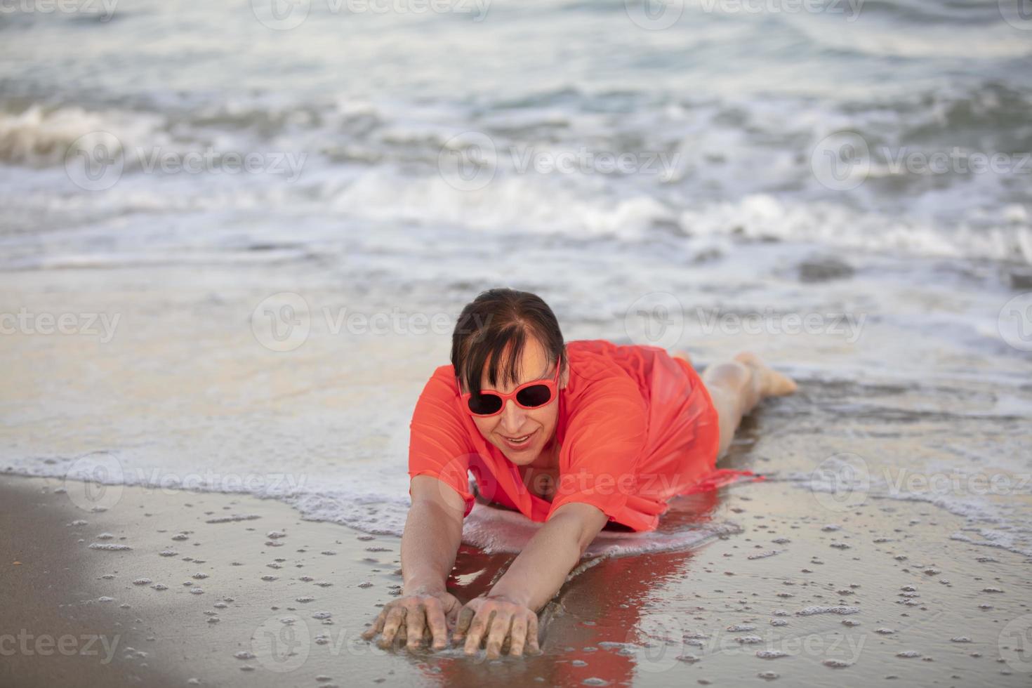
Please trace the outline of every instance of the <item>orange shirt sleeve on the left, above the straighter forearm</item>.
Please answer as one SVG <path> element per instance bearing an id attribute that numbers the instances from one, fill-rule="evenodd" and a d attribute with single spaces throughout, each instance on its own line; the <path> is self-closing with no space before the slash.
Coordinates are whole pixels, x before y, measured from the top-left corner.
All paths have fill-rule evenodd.
<path id="1" fill-rule="evenodd" d="M 452 487 L 465 500 L 466 516 L 474 501 L 467 474 L 474 448 L 458 416 L 453 370 L 439 367 L 416 401 L 409 423 L 409 477 L 432 476 Z"/>

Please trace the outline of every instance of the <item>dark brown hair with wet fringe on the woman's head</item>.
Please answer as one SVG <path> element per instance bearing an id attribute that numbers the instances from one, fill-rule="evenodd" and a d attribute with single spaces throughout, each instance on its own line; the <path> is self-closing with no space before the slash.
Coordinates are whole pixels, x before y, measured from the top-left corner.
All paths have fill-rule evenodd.
<path id="1" fill-rule="evenodd" d="M 567 346 L 559 323 L 540 296 L 505 288 L 481 292 L 462 308 L 452 333 L 451 361 L 459 386 L 479 393 L 480 376 L 488 361 L 487 382 L 491 387 L 498 384 L 503 372 L 515 385 L 521 372 L 520 355 L 531 339 L 544 348 L 549 365 L 561 355 L 562 368 L 567 367 Z M 502 365 L 507 346 L 512 348 Z"/>

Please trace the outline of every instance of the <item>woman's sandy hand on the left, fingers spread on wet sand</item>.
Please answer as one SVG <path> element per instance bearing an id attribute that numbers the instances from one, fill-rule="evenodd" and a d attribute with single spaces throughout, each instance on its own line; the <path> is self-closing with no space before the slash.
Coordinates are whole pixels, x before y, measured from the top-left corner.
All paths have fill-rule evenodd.
<path id="1" fill-rule="evenodd" d="M 369 641 L 383 633 L 379 645 L 386 648 L 404 628 L 410 651 L 422 645 L 424 633 L 429 635 L 433 650 L 444 650 L 448 647 L 448 630 L 454 627 L 460 609 L 461 602 L 446 590 L 416 588 L 385 604 L 362 637 Z"/>

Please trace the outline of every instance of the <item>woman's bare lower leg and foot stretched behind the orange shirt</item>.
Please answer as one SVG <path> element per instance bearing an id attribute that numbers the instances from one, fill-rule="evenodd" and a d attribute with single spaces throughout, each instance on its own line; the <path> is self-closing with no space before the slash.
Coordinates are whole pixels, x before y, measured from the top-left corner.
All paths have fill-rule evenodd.
<path id="1" fill-rule="evenodd" d="M 691 362 L 683 352 L 674 356 Z M 795 381 L 770 369 L 750 352 L 738 354 L 733 361 L 710 365 L 703 371 L 702 379 L 713 399 L 720 424 L 718 459 L 731 446 L 742 417 L 752 411 L 761 399 L 792 394 L 797 388 Z"/>

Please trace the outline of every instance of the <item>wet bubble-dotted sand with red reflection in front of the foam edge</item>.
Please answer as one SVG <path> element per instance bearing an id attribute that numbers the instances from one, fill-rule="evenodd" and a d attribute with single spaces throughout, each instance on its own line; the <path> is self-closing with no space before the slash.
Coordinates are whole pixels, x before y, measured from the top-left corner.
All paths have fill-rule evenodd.
<path id="1" fill-rule="evenodd" d="M 543 655 L 487 661 L 360 640 L 399 589 L 393 536 L 220 493 L 94 486 L 114 491 L 95 513 L 83 487 L 0 480 L 2 685 L 1026 686 L 1032 671 L 1029 561 L 952 539 L 963 519 L 918 502 L 832 514 L 773 481 L 679 498 L 666 527 L 740 532 L 584 568 L 544 613 Z M 453 591 L 483 592 L 510 557 L 463 546 Z"/>

